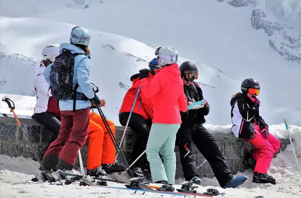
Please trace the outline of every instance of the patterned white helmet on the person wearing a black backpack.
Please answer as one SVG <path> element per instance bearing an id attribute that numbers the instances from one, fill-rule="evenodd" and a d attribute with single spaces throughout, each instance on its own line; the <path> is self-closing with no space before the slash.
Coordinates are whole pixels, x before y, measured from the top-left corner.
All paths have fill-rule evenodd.
<path id="1" fill-rule="evenodd" d="M 70 43 L 71 44 L 81 44 L 88 46 L 90 43 L 91 35 L 89 31 L 84 28 L 77 26 L 71 30 Z"/>

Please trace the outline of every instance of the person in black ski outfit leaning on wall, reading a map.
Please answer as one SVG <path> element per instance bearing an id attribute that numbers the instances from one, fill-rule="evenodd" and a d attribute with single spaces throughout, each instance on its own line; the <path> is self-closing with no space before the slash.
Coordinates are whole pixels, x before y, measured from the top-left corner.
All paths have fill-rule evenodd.
<path id="1" fill-rule="evenodd" d="M 184 83 L 184 93 L 188 105 L 204 100 L 203 91 L 198 83 L 198 68 L 191 61 L 185 61 L 180 65 L 181 77 Z M 198 175 L 196 160 L 192 152 L 192 142 L 209 162 L 214 175 L 223 188 L 237 187 L 248 179 L 247 176 L 233 176 L 224 156 L 214 137 L 203 126 L 205 116 L 209 114 L 208 103 L 199 109 L 189 110 L 188 117 L 182 117 L 182 124 L 177 133 L 176 145 L 179 147 L 180 159 L 184 177 L 201 185 Z"/>

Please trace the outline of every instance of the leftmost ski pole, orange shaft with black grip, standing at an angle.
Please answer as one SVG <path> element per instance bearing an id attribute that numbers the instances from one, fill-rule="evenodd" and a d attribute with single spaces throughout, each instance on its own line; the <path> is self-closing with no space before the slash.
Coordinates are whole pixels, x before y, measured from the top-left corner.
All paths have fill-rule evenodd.
<path id="1" fill-rule="evenodd" d="M 33 153 L 34 153 L 34 156 L 37 158 L 38 162 L 40 163 L 40 166 L 41 166 L 41 168 L 43 169 L 43 172 L 45 173 L 45 175 L 46 175 L 46 177 L 47 177 L 49 183 L 52 184 L 50 178 L 49 178 L 48 175 L 46 174 L 45 168 L 44 168 L 44 166 L 43 166 L 43 164 L 42 164 L 40 158 L 38 157 L 38 155 L 37 155 L 37 153 L 36 153 L 36 151 L 35 151 L 35 149 L 34 149 L 32 143 L 31 143 L 31 141 L 30 141 L 29 138 L 28 138 L 27 133 L 25 132 L 25 129 L 24 129 L 22 123 L 20 122 L 19 118 L 17 117 L 16 113 L 14 112 L 14 109 L 15 109 L 15 103 L 14 103 L 10 98 L 8 98 L 7 96 L 3 96 L 2 101 L 6 102 L 6 103 L 8 104 L 8 106 L 9 106 L 9 108 L 11 109 L 11 112 L 13 112 L 14 117 L 16 118 L 16 121 L 17 121 L 18 125 L 19 125 L 21 131 L 23 132 L 23 134 L 24 134 L 24 136 L 25 136 L 25 139 L 27 140 L 28 144 L 30 145 L 30 147 L 31 147 L 31 149 L 32 149 L 32 151 L 33 151 Z M 13 106 L 12 106 L 11 102 L 13 103 Z"/>

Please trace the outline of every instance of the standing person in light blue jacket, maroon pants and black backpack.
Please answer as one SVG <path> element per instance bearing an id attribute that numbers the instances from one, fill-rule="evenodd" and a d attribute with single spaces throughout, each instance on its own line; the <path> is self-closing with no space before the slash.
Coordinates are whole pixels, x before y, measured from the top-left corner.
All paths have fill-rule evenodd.
<path id="1" fill-rule="evenodd" d="M 101 103 L 94 93 L 89 80 L 90 50 L 88 45 L 90 38 L 91 36 L 87 29 L 75 27 L 71 30 L 70 43 L 62 43 L 60 45 L 60 54 L 71 52 L 72 54 L 78 53 L 78 55 L 74 57 L 72 93 L 63 90 L 62 95 L 66 95 L 66 98 L 59 99 L 62 118 L 59 136 L 50 144 L 42 160 L 42 164 L 46 170 L 53 169 L 57 172 L 80 174 L 73 169 L 73 166 L 78 155 L 78 149 L 86 143 L 88 137 L 90 101 L 97 105 Z M 61 78 L 66 81 L 66 77 L 72 76 L 71 72 L 69 75 L 67 72 L 63 72 L 61 68 L 65 66 L 66 62 L 60 62 L 59 59 L 60 56 L 44 71 L 45 79 L 50 86 L 58 86 L 59 83 L 54 84 L 54 82 L 60 81 Z M 51 69 L 52 67 L 54 68 Z M 62 89 L 60 91 L 62 93 Z M 69 100 L 70 95 L 73 94 L 75 94 L 76 100 Z M 55 94 L 53 93 L 53 95 Z"/>

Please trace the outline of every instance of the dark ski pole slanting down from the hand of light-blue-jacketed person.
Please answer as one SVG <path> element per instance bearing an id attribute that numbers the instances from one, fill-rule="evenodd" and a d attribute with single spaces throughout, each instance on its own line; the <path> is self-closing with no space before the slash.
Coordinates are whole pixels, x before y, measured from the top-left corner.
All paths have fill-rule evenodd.
<path id="1" fill-rule="evenodd" d="M 112 140 L 112 143 L 113 143 L 113 145 L 114 145 L 114 147 L 115 147 L 117 153 L 120 153 L 121 160 L 122 160 L 122 162 L 123 162 L 124 168 L 125 168 L 125 169 L 128 168 L 128 163 L 127 163 L 127 161 L 126 161 L 126 158 L 124 157 L 123 152 L 122 152 L 121 148 L 119 147 L 119 145 L 118 145 L 118 143 L 117 143 L 117 141 L 116 141 L 116 138 L 115 138 L 115 136 L 114 136 L 112 130 L 110 129 L 110 126 L 109 126 L 109 124 L 108 124 L 106 118 L 104 117 L 103 112 L 101 111 L 99 105 L 95 105 L 95 106 L 96 106 L 96 109 L 98 110 L 99 115 L 100 115 L 100 117 L 101 117 L 101 119 L 102 119 L 102 121 L 103 121 L 103 123 L 104 123 L 104 125 L 105 125 L 105 127 L 106 127 L 106 130 L 108 131 L 108 134 L 109 134 L 109 136 L 110 136 L 110 138 L 111 138 L 111 140 Z M 129 178 L 134 177 L 132 171 L 131 171 L 129 168 L 128 168 L 128 172 L 127 172 L 127 173 L 128 173 Z"/>

